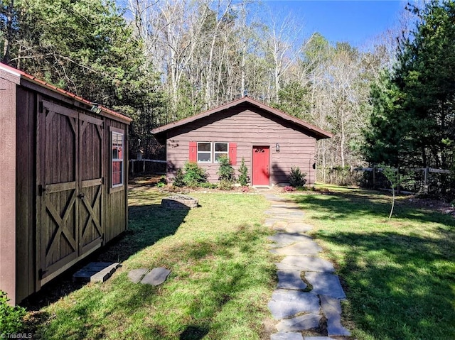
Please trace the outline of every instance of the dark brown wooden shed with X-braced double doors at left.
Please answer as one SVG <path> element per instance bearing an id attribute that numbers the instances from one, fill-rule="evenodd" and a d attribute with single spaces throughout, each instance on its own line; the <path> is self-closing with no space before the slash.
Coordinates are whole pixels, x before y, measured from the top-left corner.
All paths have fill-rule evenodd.
<path id="1" fill-rule="evenodd" d="M 13 304 L 127 229 L 130 121 L 0 64 L 0 289 Z"/>

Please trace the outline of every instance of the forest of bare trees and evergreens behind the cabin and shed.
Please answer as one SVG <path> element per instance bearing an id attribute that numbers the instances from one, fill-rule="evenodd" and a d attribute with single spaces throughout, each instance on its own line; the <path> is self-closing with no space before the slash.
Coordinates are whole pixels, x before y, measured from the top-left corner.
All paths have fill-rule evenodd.
<path id="1" fill-rule="evenodd" d="M 162 156 L 152 128 L 248 95 L 333 133 L 320 180 L 453 168 L 453 1 L 408 4 L 361 49 L 294 15 L 255 0 L 0 0 L 0 57 L 132 117 L 130 155 Z M 452 179 L 437 178 L 439 194 L 453 196 Z"/>

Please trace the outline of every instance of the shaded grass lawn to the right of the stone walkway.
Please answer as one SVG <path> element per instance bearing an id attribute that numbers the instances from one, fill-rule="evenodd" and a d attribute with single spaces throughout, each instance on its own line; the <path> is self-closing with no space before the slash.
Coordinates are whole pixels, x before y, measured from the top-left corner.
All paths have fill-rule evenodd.
<path id="1" fill-rule="evenodd" d="M 378 192 L 292 195 L 336 264 L 355 339 L 455 339 L 455 219 Z"/>

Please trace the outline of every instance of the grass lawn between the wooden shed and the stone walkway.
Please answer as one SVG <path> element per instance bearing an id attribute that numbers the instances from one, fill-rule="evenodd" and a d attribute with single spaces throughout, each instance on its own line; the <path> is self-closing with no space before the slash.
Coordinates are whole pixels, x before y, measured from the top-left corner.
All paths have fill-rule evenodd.
<path id="1" fill-rule="evenodd" d="M 130 231 L 100 255 L 122 268 L 44 307 L 36 338 L 262 339 L 276 285 L 261 223 L 268 203 L 260 195 L 191 195 L 201 207 L 169 211 L 157 190 L 132 190 Z M 163 285 L 127 278 L 154 267 L 171 270 Z"/>

